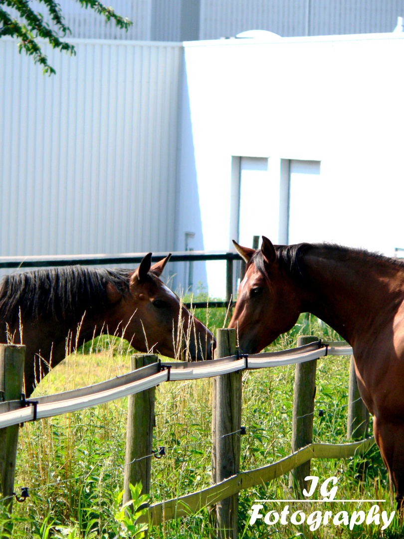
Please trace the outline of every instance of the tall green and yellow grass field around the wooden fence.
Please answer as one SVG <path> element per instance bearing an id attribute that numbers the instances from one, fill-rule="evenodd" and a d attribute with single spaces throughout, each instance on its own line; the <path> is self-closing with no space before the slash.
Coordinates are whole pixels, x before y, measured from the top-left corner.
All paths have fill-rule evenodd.
<path id="1" fill-rule="evenodd" d="M 207 314 L 200 310 L 197 316 L 214 329 L 224 325 L 225 309 L 210 309 Z M 314 317 L 302 316 L 297 326 L 279 337 L 271 350 L 292 347 L 298 334 L 338 338 Z M 36 393 L 64 391 L 123 374 L 129 370 L 132 352 L 128 344 L 118 338 L 101 337 L 55 368 Z M 349 357 L 325 357 L 318 360 L 317 365 L 314 441 L 344 443 Z M 246 426 L 247 434 L 241 437 L 241 471 L 270 464 L 290 454 L 293 381 L 292 366 L 243 374 L 242 425 Z M 322 417 L 318 417 L 320 409 L 324 410 Z M 94 409 L 24 424 L 19 436 L 16 492 L 19 487 L 27 486 L 30 497 L 24 503 L 14 502 L 12 537 L 113 539 L 144 535 L 141 527 L 133 526 L 133 519 L 121 510 L 126 410 L 127 400 L 121 399 Z M 166 455 L 152 462 L 151 502 L 210 485 L 210 379 L 158 386 L 154 437 L 155 448 L 164 446 Z M 367 515 L 374 505 L 363 500 L 383 500 L 377 502 L 380 513 L 386 511 L 388 516 L 395 509 L 377 447 L 373 446 L 365 458 L 312 460 L 311 474 L 318 476 L 319 486 L 331 476 L 338 479 L 335 501 L 322 503 L 319 487 L 312 502 L 267 501 L 262 504 L 262 513 L 273 512 L 268 517 L 270 522 L 276 520 L 275 513 L 280 515 L 286 505 L 290 514 L 275 524 L 268 524 L 262 518 L 250 526 L 254 500 L 293 497 L 288 490 L 288 475 L 285 475 L 240 493 L 239 536 L 282 539 L 404 536 L 397 515 L 384 530 L 381 530 L 382 521 L 380 525 L 366 524 L 366 520 L 354 523 L 356 519 L 361 520 L 358 512 Z M 137 496 L 135 492 L 135 498 Z M 291 518 L 292 513 L 298 511 L 301 513 Z M 332 519 L 325 524 L 326 511 L 332 513 L 332 519 L 342 511 L 346 516 L 337 517 L 342 521 L 340 524 Z M 303 514 L 309 523 L 293 523 Z M 10 525 L 4 515 L 2 522 L 3 526 Z M 208 510 L 204 510 L 187 519 L 151 528 L 149 536 L 156 539 L 213 537 L 212 521 Z"/>

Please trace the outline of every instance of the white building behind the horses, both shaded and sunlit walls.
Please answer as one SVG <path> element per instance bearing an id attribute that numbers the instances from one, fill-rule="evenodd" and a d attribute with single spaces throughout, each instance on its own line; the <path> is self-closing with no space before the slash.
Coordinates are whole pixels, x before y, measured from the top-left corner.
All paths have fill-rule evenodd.
<path id="1" fill-rule="evenodd" d="M 57 75 L 0 40 L 0 255 L 404 247 L 400 33 L 75 40 Z M 177 284 L 187 287 L 183 266 Z M 225 263 L 193 282 L 222 296 Z"/>

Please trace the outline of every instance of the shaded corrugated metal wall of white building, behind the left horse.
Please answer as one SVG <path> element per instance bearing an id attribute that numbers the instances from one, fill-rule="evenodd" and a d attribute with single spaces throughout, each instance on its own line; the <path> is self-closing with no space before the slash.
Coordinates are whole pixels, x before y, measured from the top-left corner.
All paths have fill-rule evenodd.
<path id="1" fill-rule="evenodd" d="M 0 40 L 0 255 L 174 246 L 180 45 Z"/>

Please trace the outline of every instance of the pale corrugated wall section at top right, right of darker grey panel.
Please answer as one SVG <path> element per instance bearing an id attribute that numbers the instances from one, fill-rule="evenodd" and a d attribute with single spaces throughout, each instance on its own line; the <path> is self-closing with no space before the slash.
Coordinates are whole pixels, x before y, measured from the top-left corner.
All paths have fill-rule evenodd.
<path id="1" fill-rule="evenodd" d="M 391 32 L 404 0 L 200 0 L 199 39 L 269 30 L 283 37 Z"/>

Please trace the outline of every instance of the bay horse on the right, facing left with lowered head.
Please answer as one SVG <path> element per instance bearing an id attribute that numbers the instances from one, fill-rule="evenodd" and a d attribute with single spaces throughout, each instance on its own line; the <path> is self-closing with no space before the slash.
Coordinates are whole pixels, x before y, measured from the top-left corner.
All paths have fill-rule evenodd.
<path id="1" fill-rule="evenodd" d="M 245 277 L 229 327 L 244 353 L 254 354 L 316 315 L 353 348 L 362 399 L 373 415 L 374 439 L 399 510 L 404 498 L 404 264 L 329 244 L 276 245 L 236 250 Z"/>

